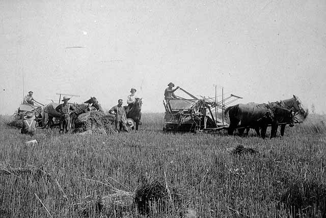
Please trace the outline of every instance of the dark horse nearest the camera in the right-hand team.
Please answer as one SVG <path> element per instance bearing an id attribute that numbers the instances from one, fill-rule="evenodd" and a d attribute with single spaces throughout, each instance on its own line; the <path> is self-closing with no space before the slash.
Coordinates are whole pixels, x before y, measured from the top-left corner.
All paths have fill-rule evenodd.
<path id="1" fill-rule="evenodd" d="M 294 112 L 280 106 L 270 107 L 267 104 L 237 104 L 226 109 L 229 113 L 230 126 L 228 134 L 233 135 L 236 128 L 241 128 L 239 134 L 242 135 L 244 129 L 254 128 L 262 138 L 266 136 L 268 124 L 271 124 L 270 138 L 276 137 L 277 128 L 280 122 L 287 120 L 290 126 L 294 126 Z M 240 124 L 239 124 L 240 123 Z M 259 133 L 259 128 L 261 133 Z"/>

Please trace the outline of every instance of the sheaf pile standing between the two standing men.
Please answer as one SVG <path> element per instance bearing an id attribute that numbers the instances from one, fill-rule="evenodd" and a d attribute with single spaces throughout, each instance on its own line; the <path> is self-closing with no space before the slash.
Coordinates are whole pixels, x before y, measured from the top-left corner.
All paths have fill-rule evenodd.
<path id="1" fill-rule="evenodd" d="M 114 115 L 106 115 L 101 111 L 79 114 L 75 121 L 75 133 L 91 131 L 92 133 L 111 134 L 115 132 Z"/>

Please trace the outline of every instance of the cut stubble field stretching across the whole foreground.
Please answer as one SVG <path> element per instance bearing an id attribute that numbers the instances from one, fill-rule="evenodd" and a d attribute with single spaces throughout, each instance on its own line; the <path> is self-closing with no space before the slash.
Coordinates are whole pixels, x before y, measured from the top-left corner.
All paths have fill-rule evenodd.
<path id="1" fill-rule="evenodd" d="M 0 216 L 326 216 L 324 116 L 310 115 L 275 139 L 167 134 L 163 117 L 143 114 L 140 131 L 112 135 L 55 129 L 30 137 L 1 124 Z M 32 139 L 38 144 L 25 144 Z M 258 153 L 232 153 L 240 145 Z M 134 194 L 149 178 L 168 194 L 144 212 Z M 98 203 L 113 193 L 133 201 Z"/>

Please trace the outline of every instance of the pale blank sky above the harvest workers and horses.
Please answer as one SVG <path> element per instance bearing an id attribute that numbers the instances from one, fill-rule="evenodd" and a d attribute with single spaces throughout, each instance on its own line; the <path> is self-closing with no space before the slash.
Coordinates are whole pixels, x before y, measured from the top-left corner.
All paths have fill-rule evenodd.
<path id="1" fill-rule="evenodd" d="M 324 113 L 325 11 L 324 0 L 2 0 L 0 113 L 29 90 L 110 109 L 131 87 L 143 112 L 164 112 L 169 82 L 205 97 L 223 87 L 243 97 L 234 104 L 296 95 Z"/>

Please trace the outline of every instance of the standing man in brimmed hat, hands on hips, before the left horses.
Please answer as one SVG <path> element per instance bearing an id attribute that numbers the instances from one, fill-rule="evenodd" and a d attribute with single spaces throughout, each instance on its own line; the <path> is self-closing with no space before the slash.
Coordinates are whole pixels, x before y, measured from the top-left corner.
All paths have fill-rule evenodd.
<path id="1" fill-rule="evenodd" d="M 73 104 L 69 104 L 68 101 L 70 98 L 63 97 L 63 104 L 58 105 L 56 107 L 56 111 L 61 113 L 60 118 L 60 134 L 63 134 L 64 130 L 66 130 L 65 133 L 68 133 L 70 130 L 70 114 L 74 113 L 76 108 Z"/>

